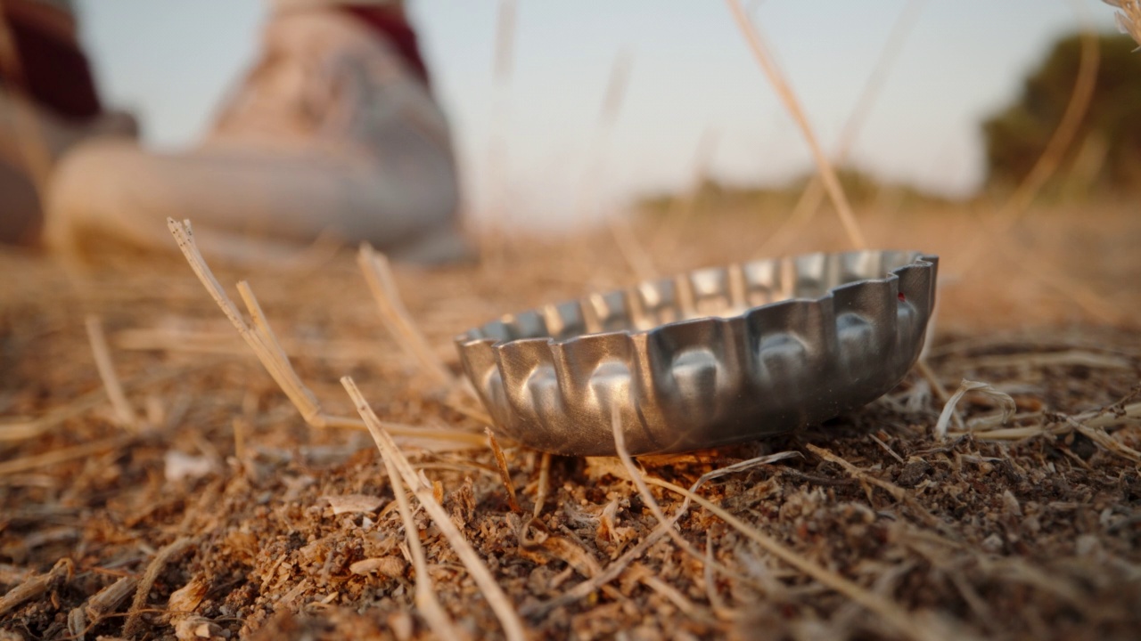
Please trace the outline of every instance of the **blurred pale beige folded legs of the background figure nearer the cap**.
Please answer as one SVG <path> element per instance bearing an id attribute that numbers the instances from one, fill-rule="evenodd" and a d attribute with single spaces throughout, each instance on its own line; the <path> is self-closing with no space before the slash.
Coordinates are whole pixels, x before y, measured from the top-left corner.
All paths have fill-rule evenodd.
<path id="1" fill-rule="evenodd" d="M 195 149 L 105 143 L 70 154 L 51 189 L 49 241 L 74 245 L 98 230 L 169 249 L 170 217 L 191 219 L 203 250 L 213 237 L 235 259 L 259 254 L 242 240 L 301 244 L 330 232 L 408 260 L 470 257 L 447 123 L 419 58 L 391 35 L 412 33 L 399 6 L 329 5 L 275 11 L 259 62 Z"/>

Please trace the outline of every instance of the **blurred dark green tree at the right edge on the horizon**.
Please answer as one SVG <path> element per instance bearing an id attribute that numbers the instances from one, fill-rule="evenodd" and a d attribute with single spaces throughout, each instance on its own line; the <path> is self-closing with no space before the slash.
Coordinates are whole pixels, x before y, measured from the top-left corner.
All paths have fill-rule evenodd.
<path id="1" fill-rule="evenodd" d="M 1141 54 L 1127 35 L 1101 35 L 1101 64 L 1090 109 L 1070 146 L 1055 185 L 1091 188 L 1141 188 Z M 1025 81 L 1013 104 L 982 123 L 987 180 L 1011 186 L 1029 173 L 1074 91 L 1082 56 L 1081 35 L 1059 40 Z"/>

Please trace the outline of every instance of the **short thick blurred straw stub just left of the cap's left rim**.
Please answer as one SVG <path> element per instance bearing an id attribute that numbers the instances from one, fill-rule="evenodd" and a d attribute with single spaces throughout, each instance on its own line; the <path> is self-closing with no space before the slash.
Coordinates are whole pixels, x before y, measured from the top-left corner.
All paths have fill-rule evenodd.
<path id="1" fill-rule="evenodd" d="M 361 266 L 364 279 L 369 283 L 369 291 L 372 292 L 372 298 L 377 301 L 381 322 L 400 348 L 412 356 L 423 372 L 435 379 L 438 384 L 446 388 L 455 387 L 455 376 L 432 351 L 428 340 L 412 320 L 412 315 L 404 307 L 399 290 L 396 287 L 396 279 L 393 277 L 393 268 L 388 265 L 388 258 L 372 249 L 369 243 L 362 243 L 361 252 L 357 254 L 357 265 Z"/>

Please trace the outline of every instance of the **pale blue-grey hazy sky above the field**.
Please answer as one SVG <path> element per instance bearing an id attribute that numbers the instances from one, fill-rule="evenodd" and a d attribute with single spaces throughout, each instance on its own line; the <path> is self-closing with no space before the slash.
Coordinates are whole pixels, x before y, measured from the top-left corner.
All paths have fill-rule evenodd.
<path id="1" fill-rule="evenodd" d="M 1099 0 L 743 0 L 826 149 L 905 9 L 898 55 L 850 153 L 883 179 L 952 196 L 984 178 L 979 123 L 1079 13 Z M 257 57 L 259 0 L 81 0 L 105 102 L 140 117 L 148 146 L 194 145 Z M 712 178 L 776 184 L 811 168 L 725 2 L 520 0 L 510 73 L 494 68 L 497 0 L 410 0 L 434 91 L 452 122 L 469 216 L 551 225 Z M 617 72 L 615 70 L 618 70 Z M 624 70 L 624 74 L 621 73 Z M 613 76 L 624 78 L 604 119 Z M 500 132 L 500 133 L 496 133 Z"/>

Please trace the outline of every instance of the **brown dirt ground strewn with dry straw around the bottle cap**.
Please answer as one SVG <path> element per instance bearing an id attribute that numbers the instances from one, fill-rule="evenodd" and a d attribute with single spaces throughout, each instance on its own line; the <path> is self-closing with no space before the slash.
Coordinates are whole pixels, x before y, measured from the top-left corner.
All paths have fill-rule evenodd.
<path id="1" fill-rule="evenodd" d="M 1015 417 L 1000 424 L 994 398 L 971 393 L 957 406 L 965 428 L 939 439 L 944 404 L 913 372 L 818 428 L 644 459 L 647 477 L 689 487 L 799 453 L 697 490 L 743 528 L 650 485 L 667 516 L 686 509 L 686 547 L 644 545 L 658 519 L 615 459 L 553 459 L 532 518 L 539 453 L 503 444 L 512 511 L 485 445 L 400 441 L 532 638 L 1136 639 L 1135 208 L 1044 210 L 1009 234 L 968 210 L 863 222 L 875 246 L 942 257 L 926 363 L 950 391 L 968 379 L 1010 395 Z M 759 258 L 774 225 L 702 214 L 642 220 L 633 236 L 674 273 Z M 822 217 L 775 251 L 842 249 L 835 227 Z M 606 232 L 510 238 L 479 266 L 397 267 L 397 284 L 455 368 L 451 338 L 469 326 L 634 282 L 616 248 Z M 0 250 L 0 639 L 429 638 L 370 436 L 308 427 L 180 258 L 97 265 L 68 276 Z M 329 414 L 355 415 L 338 383 L 348 374 L 387 421 L 483 436 L 387 335 L 354 252 L 212 266 L 235 300 L 249 281 Z M 126 414 L 108 401 L 89 317 Z M 501 638 L 440 528 L 422 509 L 413 518 L 447 616 L 472 639 Z M 621 571 L 585 590 L 608 568 Z"/>

